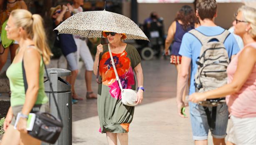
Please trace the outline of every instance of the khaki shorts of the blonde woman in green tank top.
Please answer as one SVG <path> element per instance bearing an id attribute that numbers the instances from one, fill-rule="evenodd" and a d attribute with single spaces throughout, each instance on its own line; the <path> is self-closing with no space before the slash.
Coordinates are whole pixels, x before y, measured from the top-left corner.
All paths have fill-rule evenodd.
<path id="1" fill-rule="evenodd" d="M 13 109 L 13 119 L 11 121 L 11 125 L 14 126 L 15 124 L 15 121 L 16 121 L 16 117 L 18 115 L 19 112 L 21 112 L 23 108 L 23 105 L 19 105 L 19 106 L 13 106 L 12 109 Z M 32 110 L 31 110 L 31 113 L 35 113 L 35 112 L 48 112 L 50 113 L 50 106 L 49 106 L 49 103 L 45 103 L 45 104 L 36 104 Z"/>

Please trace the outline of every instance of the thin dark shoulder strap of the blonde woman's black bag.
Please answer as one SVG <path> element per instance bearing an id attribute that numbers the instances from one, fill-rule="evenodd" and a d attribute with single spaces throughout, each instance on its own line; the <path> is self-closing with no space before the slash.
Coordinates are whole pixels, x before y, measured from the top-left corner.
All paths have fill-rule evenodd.
<path id="1" fill-rule="evenodd" d="M 31 47 L 31 46 L 33 46 L 33 45 L 30 45 L 30 46 L 28 46 L 28 47 Z M 42 54 L 41 54 L 41 57 L 42 57 L 42 61 L 43 61 L 43 55 L 42 55 Z M 45 67 L 45 71 L 46 71 L 47 78 L 48 78 L 49 81 L 50 81 L 50 77 L 49 77 L 49 74 L 48 74 L 48 72 L 47 72 L 47 68 L 46 68 L 46 66 L 45 66 L 45 62 L 44 62 L 44 61 L 43 61 L 43 65 L 44 65 L 44 67 Z M 24 88 L 25 88 L 25 93 L 26 93 L 27 90 L 28 90 L 28 82 L 27 82 L 27 77 L 26 77 L 26 72 L 25 72 L 25 67 L 24 67 L 24 61 L 23 61 L 23 59 L 22 59 L 22 72 L 23 72 Z M 52 90 L 52 93 L 53 93 L 53 86 L 52 86 L 52 82 L 51 82 L 51 81 L 50 81 L 50 89 Z M 53 100 L 54 100 L 54 103 L 55 103 L 55 105 L 56 105 L 56 108 L 57 108 L 57 112 L 58 112 L 58 116 L 59 116 L 59 118 L 60 118 L 60 121 L 62 122 L 62 118 L 61 118 L 61 116 L 60 116 L 60 110 L 59 110 L 59 108 L 58 108 L 58 104 L 57 104 L 57 101 L 56 101 L 56 99 L 55 99 L 54 93 L 53 93 Z"/>

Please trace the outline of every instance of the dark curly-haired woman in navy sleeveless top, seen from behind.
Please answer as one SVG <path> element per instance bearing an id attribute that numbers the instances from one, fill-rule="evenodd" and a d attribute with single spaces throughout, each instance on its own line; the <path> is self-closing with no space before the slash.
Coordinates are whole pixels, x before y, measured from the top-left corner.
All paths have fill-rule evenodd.
<path id="1" fill-rule="evenodd" d="M 195 28 L 195 21 L 196 17 L 192 7 L 184 5 L 183 7 L 181 7 L 181 10 L 177 12 L 174 22 L 172 22 L 171 26 L 168 29 L 168 34 L 165 42 L 165 54 L 168 55 L 169 47 L 174 41 L 171 48 L 170 63 L 176 66 L 178 74 L 181 74 L 181 55 L 178 54 L 181 47 L 181 40 L 186 32 Z M 178 81 L 179 80 L 177 79 L 177 84 Z M 186 91 L 187 89 L 185 89 L 183 92 L 183 101 L 185 101 L 186 98 Z"/>

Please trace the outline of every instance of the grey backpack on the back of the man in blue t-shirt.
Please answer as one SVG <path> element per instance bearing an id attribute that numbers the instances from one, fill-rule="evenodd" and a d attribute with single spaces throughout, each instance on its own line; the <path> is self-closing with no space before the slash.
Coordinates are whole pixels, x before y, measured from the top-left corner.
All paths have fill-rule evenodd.
<path id="1" fill-rule="evenodd" d="M 230 32 L 228 30 L 216 36 L 206 36 L 196 29 L 193 34 L 202 44 L 200 56 L 196 60 L 198 69 L 195 75 L 196 92 L 205 92 L 216 89 L 227 83 L 226 69 L 229 64 L 228 52 L 224 42 Z M 217 106 L 221 99 L 212 99 L 201 102 L 202 106 Z"/>

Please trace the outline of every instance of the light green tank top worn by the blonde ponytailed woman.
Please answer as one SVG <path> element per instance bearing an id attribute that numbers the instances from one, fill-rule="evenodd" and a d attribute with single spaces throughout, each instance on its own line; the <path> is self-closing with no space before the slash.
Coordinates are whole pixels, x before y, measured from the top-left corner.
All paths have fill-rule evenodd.
<path id="1" fill-rule="evenodd" d="M 22 62 L 12 63 L 6 71 L 6 75 L 10 81 L 11 90 L 11 106 L 23 105 L 25 103 L 25 87 L 23 81 Z M 45 94 L 44 87 L 44 65 L 43 59 L 40 61 L 39 71 L 39 90 L 35 104 L 48 103 L 48 97 Z"/>

